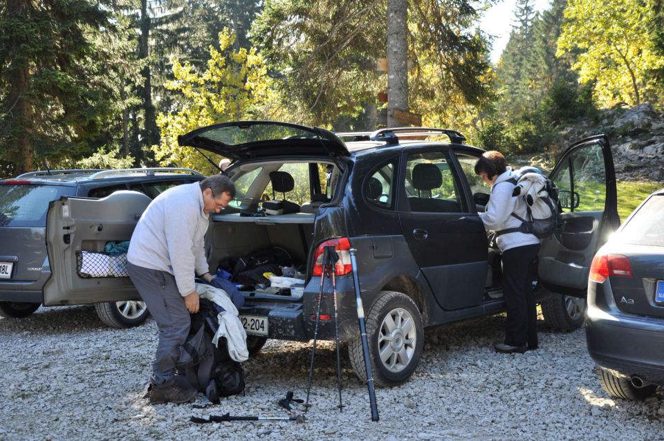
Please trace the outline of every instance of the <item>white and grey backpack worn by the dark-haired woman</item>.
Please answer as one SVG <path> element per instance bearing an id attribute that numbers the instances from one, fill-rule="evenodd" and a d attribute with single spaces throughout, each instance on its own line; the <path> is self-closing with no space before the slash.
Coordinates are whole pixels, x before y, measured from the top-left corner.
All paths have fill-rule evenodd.
<path id="1" fill-rule="evenodd" d="M 521 232 L 543 239 L 560 232 L 562 229 L 560 212 L 562 210 L 558 200 L 558 188 L 553 181 L 534 167 L 524 167 L 517 173 L 519 173 L 518 179 L 510 178 L 503 182 L 515 185 L 512 196 L 522 198 L 526 204 L 526 218 L 512 213 L 511 216 L 521 220 L 521 225 L 501 229 L 496 232 L 496 235 Z"/>

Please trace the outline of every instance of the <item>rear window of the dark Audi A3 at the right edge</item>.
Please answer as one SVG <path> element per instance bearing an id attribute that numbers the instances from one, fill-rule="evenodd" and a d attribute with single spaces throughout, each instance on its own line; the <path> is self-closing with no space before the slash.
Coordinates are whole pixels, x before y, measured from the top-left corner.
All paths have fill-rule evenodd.
<path id="1" fill-rule="evenodd" d="M 620 241 L 664 246 L 664 195 L 652 196 L 620 231 Z"/>

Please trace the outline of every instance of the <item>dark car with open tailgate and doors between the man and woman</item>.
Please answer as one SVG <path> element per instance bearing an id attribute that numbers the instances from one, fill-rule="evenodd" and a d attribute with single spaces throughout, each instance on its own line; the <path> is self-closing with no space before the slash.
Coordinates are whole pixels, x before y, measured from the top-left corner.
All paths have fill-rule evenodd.
<path id="1" fill-rule="evenodd" d="M 413 140 L 423 137 L 438 140 Z M 237 268 L 237 261 L 246 263 L 251 259 L 244 258 L 256 253 L 264 259 L 266 250 L 273 250 L 287 254 L 290 270 L 303 274 L 299 290 L 239 284 L 250 350 L 259 350 L 268 337 L 313 338 L 325 245 L 335 245 L 340 256 L 335 267 L 340 336 L 349 342 L 351 364 L 363 377 L 349 259 L 349 249 L 357 250 L 377 384 L 400 384 L 412 375 L 425 328 L 504 312 L 500 255 L 488 247 L 478 216 L 490 193 L 473 171 L 483 150 L 464 140 L 445 129 L 336 135 L 261 121 L 215 124 L 182 135 L 181 145 L 232 160 L 225 172 L 237 186 L 237 198 L 211 216 L 210 269 L 232 271 L 230 262 Z M 605 233 L 618 225 L 607 138 L 571 146 L 552 177 L 566 207 L 565 229 L 544 242 L 537 285 L 546 320 L 569 330 L 583 322 L 592 256 Z M 120 288 L 132 290 L 126 277 L 77 277 L 77 256 L 128 239 L 144 208 L 145 202 L 131 194 L 51 203 L 46 243 L 53 276 L 44 296 L 55 303 L 73 293 L 79 299 L 107 300 Z M 319 337 L 333 339 L 327 282 L 324 291 Z"/>

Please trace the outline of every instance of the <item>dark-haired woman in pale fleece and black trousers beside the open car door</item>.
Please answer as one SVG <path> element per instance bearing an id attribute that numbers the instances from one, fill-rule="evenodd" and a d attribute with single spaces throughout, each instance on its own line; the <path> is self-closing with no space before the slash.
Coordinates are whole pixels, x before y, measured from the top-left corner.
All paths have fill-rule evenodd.
<path id="1" fill-rule="evenodd" d="M 537 310 L 533 292 L 533 264 L 540 251 L 540 239 L 533 234 L 506 232 L 526 218 L 522 198 L 513 197 L 518 176 L 507 166 L 499 151 L 487 151 L 475 163 L 475 173 L 491 185 L 486 210 L 479 214 L 487 231 L 497 232 L 497 246 L 503 262 L 503 297 L 507 305 L 505 340 L 495 344 L 499 353 L 525 353 L 537 349 Z M 519 216 L 519 218 L 513 216 Z"/>

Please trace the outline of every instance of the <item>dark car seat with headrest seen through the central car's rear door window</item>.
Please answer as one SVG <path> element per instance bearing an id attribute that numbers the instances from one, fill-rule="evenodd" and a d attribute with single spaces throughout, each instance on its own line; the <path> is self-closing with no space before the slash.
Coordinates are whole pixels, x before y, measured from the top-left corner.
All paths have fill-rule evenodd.
<path id="1" fill-rule="evenodd" d="M 432 198 L 432 189 L 443 185 L 443 173 L 435 164 L 422 162 L 412 171 L 413 187 L 417 196 L 409 196 L 410 209 L 413 212 L 455 213 L 460 212 L 459 204 L 454 200 Z"/>

